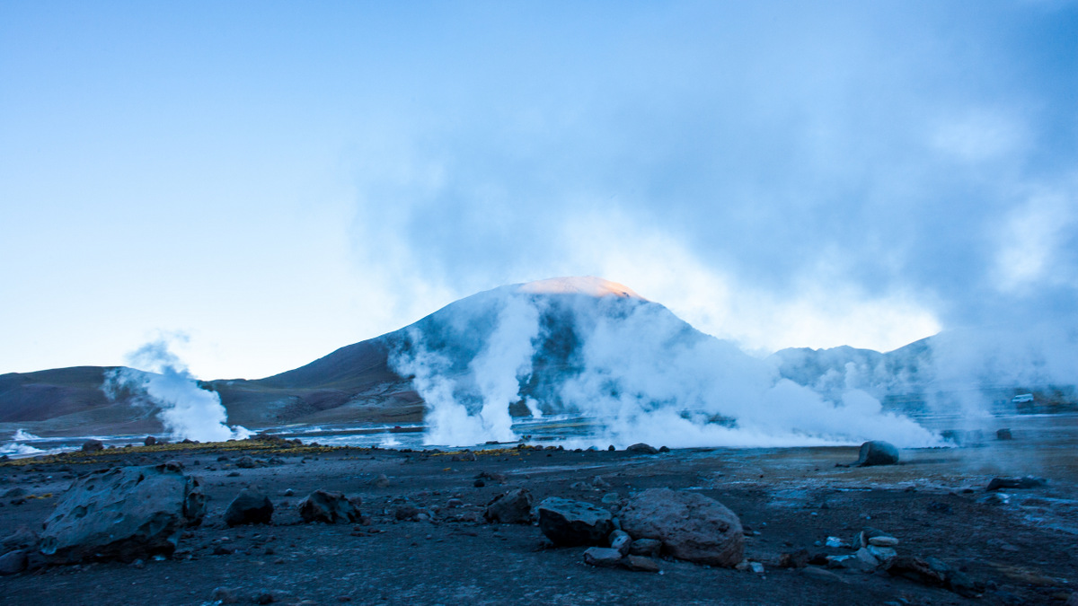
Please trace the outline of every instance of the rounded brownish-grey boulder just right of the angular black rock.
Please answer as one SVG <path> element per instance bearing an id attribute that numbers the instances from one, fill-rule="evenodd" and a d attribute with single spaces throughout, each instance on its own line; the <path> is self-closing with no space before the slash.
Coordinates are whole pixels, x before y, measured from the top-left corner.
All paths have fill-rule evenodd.
<path id="1" fill-rule="evenodd" d="M 741 520 L 704 495 L 650 488 L 631 497 L 619 517 L 622 529 L 634 540 L 660 540 L 674 557 L 728 567 L 744 560 Z"/>

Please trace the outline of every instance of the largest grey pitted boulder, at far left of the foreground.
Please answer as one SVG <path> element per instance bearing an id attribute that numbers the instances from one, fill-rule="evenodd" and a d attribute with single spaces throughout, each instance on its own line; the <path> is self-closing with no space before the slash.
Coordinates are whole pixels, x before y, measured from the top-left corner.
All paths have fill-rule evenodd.
<path id="1" fill-rule="evenodd" d="M 103 469 L 71 483 L 45 520 L 39 549 L 56 563 L 168 556 L 182 528 L 205 514 L 198 480 L 176 467 Z"/>

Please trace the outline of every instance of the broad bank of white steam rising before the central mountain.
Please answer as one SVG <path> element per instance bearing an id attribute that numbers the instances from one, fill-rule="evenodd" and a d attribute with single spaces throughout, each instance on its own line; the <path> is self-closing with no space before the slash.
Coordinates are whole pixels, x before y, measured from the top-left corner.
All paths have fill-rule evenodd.
<path id="1" fill-rule="evenodd" d="M 581 441 L 602 446 L 939 443 L 863 389 L 825 397 L 625 291 L 503 287 L 417 322 L 390 363 L 427 402 L 428 443 L 516 439 L 521 403 L 535 417 L 594 419 Z"/>

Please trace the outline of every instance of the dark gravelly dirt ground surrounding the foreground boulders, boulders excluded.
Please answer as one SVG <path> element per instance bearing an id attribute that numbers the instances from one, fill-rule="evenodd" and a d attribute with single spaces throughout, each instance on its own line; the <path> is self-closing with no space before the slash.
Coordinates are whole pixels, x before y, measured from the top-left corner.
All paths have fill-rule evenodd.
<path id="1" fill-rule="evenodd" d="M 244 455 L 254 468 L 237 468 Z M 1034 456 L 1035 455 L 1035 456 Z M 180 462 L 210 497 L 201 526 L 170 560 L 55 566 L 0 577 L 5 604 L 1065 604 L 1078 580 L 1076 466 L 1070 447 L 1021 439 L 982 447 L 903 451 L 888 467 L 837 467 L 856 447 L 571 452 L 507 447 L 470 454 L 280 447 L 271 442 L 166 444 L 0 464 L 0 537 L 40 528 L 79 474 Z M 271 463 L 271 459 L 274 462 Z M 1047 486 L 985 492 L 993 477 L 1034 473 Z M 384 478 L 382 478 L 384 476 Z M 482 482 L 476 478 L 484 476 Z M 482 484 L 482 485 L 476 485 Z M 236 494 L 260 486 L 272 525 L 227 527 Z M 488 524 L 484 506 L 513 487 L 617 510 L 649 487 L 689 490 L 741 518 L 746 557 L 762 574 L 660 559 L 659 574 L 584 564 L 535 525 Z M 22 491 L 14 491 L 22 488 Z M 360 524 L 303 523 L 298 502 L 324 488 L 362 498 Z M 604 499 L 606 497 L 606 499 Z M 457 500 L 451 499 L 459 499 Z M 418 515 L 399 510 L 409 506 Z M 865 526 L 899 554 L 964 570 L 966 597 L 883 570 L 779 567 L 784 552 L 852 554 Z"/>

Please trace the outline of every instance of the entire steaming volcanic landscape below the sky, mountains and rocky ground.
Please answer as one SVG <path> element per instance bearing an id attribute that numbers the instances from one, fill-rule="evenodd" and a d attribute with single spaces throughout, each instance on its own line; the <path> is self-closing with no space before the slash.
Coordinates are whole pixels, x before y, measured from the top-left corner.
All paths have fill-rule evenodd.
<path id="1" fill-rule="evenodd" d="M 165 342 L 128 367 L 6 374 L 0 590 L 1075 604 L 1073 360 L 1015 339 L 761 359 L 562 278 L 261 380 L 196 380 Z"/>

